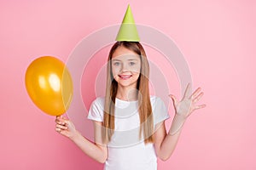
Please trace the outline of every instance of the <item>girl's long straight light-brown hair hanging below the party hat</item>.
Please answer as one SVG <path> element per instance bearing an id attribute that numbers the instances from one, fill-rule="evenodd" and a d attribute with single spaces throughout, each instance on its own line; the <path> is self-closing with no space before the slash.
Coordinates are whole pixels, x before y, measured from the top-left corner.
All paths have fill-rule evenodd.
<path id="1" fill-rule="evenodd" d="M 145 50 L 140 42 L 115 42 L 108 54 L 108 71 L 107 71 L 107 86 L 104 106 L 104 120 L 102 128 L 102 139 L 104 142 L 111 140 L 114 131 L 114 105 L 118 91 L 118 82 L 113 79 L 112 73 L 112 56 L 115 50 L 119 47 L 125 47 L 135 52 L 141 59 L 141 72 L 137 80 L 137 90 L 141 95 L 138 95 L 139 117 L 140 117 L 140 139 L 143 133 L 144 143 L 153 143 L 154 120 L 152 115 L 152 107 L 150 103 L 148 77 L 149 65 L 146 58 Z"/>

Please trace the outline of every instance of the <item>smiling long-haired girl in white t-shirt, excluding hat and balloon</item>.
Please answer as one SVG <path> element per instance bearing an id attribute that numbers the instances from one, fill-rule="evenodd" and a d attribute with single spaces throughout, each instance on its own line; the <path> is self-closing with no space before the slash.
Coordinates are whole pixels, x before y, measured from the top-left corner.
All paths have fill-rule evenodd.
<path id="1" fill-rule="evenodd" d="M 189 84 L 181 101 L 170 95 L 176 113 L 166 133 L 169 114 L 160 98 L 149 95 L 148 74 L 141 43 L 116 42 L 108 56 L 106 96 L 93 101 L 88 115 L 94 122 L 95 142 L 63 116 L 56 117 L 55 130 L 105 163 L 105 170 L 156 170 L 157 157 L 166 161 L 172 155 L 186 118 L 206 105 L 195 105 L 203 93 L 197 88 L 189 96 Z"/>

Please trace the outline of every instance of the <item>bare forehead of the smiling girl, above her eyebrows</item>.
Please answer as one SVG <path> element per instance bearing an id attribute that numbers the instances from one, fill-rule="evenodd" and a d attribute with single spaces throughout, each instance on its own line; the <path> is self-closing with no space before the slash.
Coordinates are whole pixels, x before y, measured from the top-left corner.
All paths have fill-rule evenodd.
<path id="1" fill-rule="evenodd" d="M 112 59 L 140 59 L 140 57 L 130 49 L 121 46 L 114 51 Z"/>

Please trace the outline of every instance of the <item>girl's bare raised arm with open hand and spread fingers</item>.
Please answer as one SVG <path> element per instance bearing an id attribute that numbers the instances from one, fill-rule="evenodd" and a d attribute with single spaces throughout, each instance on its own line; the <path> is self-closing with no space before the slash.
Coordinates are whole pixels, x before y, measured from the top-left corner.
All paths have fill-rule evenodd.
<path id="1" fill-rule="evenodd" d="M 177 101 L 174 95 L 170 95 L 175 108 L 175 116 L 172 120 L 172 126 L 169 133 L 166 134 L 165 122 L 160 122 L 156 126 L 156 132 L 154 133 L 154 147 L 158 157 L 161 160 L 166 161 L 172 156 L 172 152 L 175 150 L 177 140 L 183 128 L 183 124 L 190 114 L 197 110 L 204 108 L 206 105 L 195 105 L 195 103 L 201 99 L 203 93 L 200 92 L 201 88 L 197 88 L 193 94 L 189 96 L 190 84 L 188 84 L 183 99 Z"/>

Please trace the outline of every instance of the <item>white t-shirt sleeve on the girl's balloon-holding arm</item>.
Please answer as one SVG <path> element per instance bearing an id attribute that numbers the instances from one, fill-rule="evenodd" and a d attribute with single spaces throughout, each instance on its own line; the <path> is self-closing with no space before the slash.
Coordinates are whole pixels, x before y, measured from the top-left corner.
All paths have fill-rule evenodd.
<path id="1" fill-rule="evenodd" d="M 93 121 L 103 122 L 104 98 L 97 98 L 91 103 L 87 118 Z"/>

